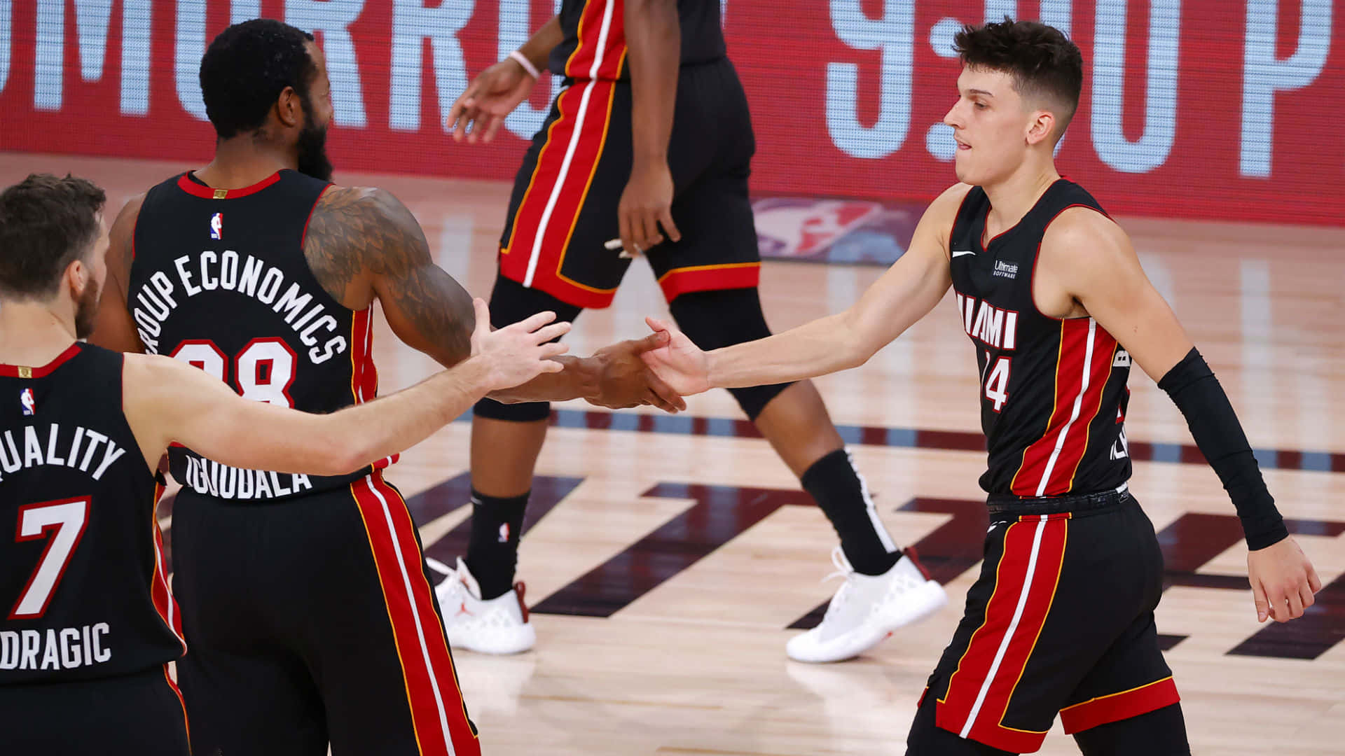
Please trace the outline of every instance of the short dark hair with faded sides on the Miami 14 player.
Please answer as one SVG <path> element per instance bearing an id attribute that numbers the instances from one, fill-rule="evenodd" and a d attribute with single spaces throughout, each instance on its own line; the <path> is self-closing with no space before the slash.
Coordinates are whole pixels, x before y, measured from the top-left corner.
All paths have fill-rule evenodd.
<path id="1" fill-rule="evenodd" d="M 1060 30 L 1041 22 L 967 24 L 952 38 L 964 66 L 1013 74 L 1013 87 L 1022 97 L 1046 97 L 1064 106 L 1064 133 L 1079 108 L 1084 86 L 1084 56 Z"/>

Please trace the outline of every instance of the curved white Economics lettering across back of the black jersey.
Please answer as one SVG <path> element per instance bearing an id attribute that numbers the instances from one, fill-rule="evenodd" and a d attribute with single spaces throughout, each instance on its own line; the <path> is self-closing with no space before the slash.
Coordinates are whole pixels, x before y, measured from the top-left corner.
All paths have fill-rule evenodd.
<path id="1" fill-rule="evenodd" d="M 168 273 L 155 270 L 149 281 L 134 293 L 130 315 L 136 320 L 140 340 L 149 352 L 160 354 L 159 335 L 163 332 L 164 320 L 178 308 L 178 299 L 184 295 L 190 299 L 211 291 L 253 297 L 277 315 L 282 315 L 299 340 L 309 347 L 307 354 L 312 365 L 321 365 L 343 354 L 350 346 L 344 336 L 336 334 L 336 319 L 324 312 L 327 308 L 321 301 L 313 303 L 313 295 L 304 292 L 297 282 L 291 282 L 281 293 L 285 274 L 252 254 L 241 260 L 231 249 L 223 252 L 207 249 L 195 260 L 190 254 L 178 257 L 174 260 L 174 268 L 178 282 L 182 284 L 180 289 Z M 331 338 L 325 343 L 319 343 L 319 335 L 323 332 Z"/>

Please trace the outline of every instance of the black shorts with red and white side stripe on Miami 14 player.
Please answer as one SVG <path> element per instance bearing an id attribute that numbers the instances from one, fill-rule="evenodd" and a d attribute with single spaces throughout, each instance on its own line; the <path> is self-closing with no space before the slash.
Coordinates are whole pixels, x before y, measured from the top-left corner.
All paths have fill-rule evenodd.
<path id="1" fill-rule="evenodd" d="M 924 693 L 935 725 L 1030 753 L 1057 713 L 1076 733 L 1176 704 L 1154 628 L 1162 553 L 1130 492 L 991 496 L 990 510 L 981 576 Z M 909 753 L 924 756 L 916 729 Z"/>

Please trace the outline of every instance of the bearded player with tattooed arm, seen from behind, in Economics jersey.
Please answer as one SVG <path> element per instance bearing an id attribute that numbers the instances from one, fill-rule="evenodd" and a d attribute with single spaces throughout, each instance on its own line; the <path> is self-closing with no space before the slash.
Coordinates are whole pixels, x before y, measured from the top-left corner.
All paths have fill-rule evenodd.
<path id="1" fill-rule="evenodd" d="M 412 214 L 387 192 L 328 183 L 332 104 L 312 36 L 273 20 L 229 27 L 200 83 L 215 159 L 117 218 L 98 343 L 305 412 L 374 398 L 375 299 L 405 343 L 445 366 L 467 358 L 471 297 Z M 565 370 L 504 398 L 671 408 L 636 356 L 654 343 L 558 358 Z M 277 476 L 202 452 L 169 451 L 194 751 L 320 755 L 330 740 L 338 755 L 475 753 L 416 529 L 381 472 L 395 456 Z"/>

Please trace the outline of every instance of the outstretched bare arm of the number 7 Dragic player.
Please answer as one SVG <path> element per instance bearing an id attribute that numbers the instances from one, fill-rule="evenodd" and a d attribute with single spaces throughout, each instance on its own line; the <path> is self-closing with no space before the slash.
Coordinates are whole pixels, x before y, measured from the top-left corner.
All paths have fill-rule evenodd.
<path id="1" fill-rule="evenodd" d="M 476 307 L 484 313 L 486 303 Z M 547 358 L 565 346 L 546 342 L 569 323 L 547 326 L 553 319 L 545 312 L 494 332 L 477 328 L 467 361 L 331 414 L 245 400 L 204 371 L 157 355 L 126 355 L 122 406 L 151 467 L 178 441 L 233 467 L 343 475 L 420 443 L 490 390 L 557 370 Z"/>

